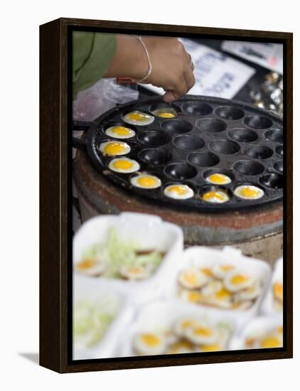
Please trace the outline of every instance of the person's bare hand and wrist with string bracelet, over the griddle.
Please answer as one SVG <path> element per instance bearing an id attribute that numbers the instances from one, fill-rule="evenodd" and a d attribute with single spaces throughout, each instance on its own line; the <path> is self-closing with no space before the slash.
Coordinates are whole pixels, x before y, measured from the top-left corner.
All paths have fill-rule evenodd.
<path id="1" fill-rule="evenodd" d="M 143 83 L 151 83 L 166 91 L 165 102 L 173 102 L 195 84 L 193 63 L 178 38 L 143 36 L 152 65 L 151 74 Z M 106 77 L 131 77 L 141 80 L 149 71 L 146 51 L 134 36 L 118 35 L 117 51 Z"/>

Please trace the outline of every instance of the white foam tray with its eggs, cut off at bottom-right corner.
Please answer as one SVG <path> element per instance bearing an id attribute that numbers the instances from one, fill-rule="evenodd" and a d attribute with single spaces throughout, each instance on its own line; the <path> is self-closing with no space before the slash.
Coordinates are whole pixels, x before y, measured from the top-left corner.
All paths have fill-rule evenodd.
<path id="1" fill-rule="evenodd" d="M 283 346 L 282 316 L 258 316 L 252 319 L 230 341 L 230 350 L 281 348 Z"/>

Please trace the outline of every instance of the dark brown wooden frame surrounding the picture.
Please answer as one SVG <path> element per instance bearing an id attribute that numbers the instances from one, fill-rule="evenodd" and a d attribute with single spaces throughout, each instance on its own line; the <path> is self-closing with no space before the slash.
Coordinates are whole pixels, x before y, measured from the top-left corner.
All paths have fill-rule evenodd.
<path id="1" fill-rule="evenodd" d="M 205 36 L 262 38 L 285 43 L 286 68 L 284 122 L 286 125 L 286 173 L 292 177 L 292 54 L 293 35 L 274 31 L 159 25 L 120 21 L 60 18 L 40 26 L 40 365 L 58 373 L 95 370 L 152 368 L 170 365 L 273 360 L 293 356 L 292 317 L 292 181 L 286 175 L 284 256 L 286 284 L 284 326 L 286 350 L 258 353 L 221 353 L 180 358 L 114 358 L 101 363 L 68 360 L 68 28 L 153 30 L 157 33 L 201 33 Z M 48 59 L 48 60 L 47 60 Z M 49 61 L 50 59 L 50 61 Z M 50 92 L 50 93 L 49 93 Z M 288 104 L 287 104 L 288 103 Z M 70 107 L 69 107 L 70 109 Z M 57 179 L 57 176 L 59 180 Z M 51 184 L 51 186 L 50 186 Z M 69 205 L 68 205 L 69 204 Z M 49 218 L 50 217 L 50 218 Z M 70 221 L 69 221 L 70 223 Z M 49 235 L 50 234 L 50 235 Z"/>

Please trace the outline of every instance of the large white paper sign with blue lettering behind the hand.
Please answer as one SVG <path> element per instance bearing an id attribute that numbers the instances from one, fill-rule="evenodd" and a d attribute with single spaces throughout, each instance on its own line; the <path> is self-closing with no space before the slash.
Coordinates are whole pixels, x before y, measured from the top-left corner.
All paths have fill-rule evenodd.
<path id="1" fill-rule="evenodd" d="M 240 61 L 234 60 L 218 50 L 186 38 L 180 38 L 180 41 L 191 55 L 195 68 L 195 85 L 188 94 L 230 99 L 255 73 L 255 70 L 250 66 L 240 63 Z M 162 88 L 150 84 L 142 86 L 159 95 L 164 94 Z"/>

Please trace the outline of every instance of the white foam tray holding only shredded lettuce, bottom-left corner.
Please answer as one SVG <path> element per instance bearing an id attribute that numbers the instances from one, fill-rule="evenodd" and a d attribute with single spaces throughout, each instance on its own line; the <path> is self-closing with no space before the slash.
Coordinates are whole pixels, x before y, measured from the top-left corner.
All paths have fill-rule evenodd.
<path id="1" fill-rule="evenodd" d="M 134 315 L 126 292 L 77 275 L 73 286 L 73 360 L 114 357 Z"/>

